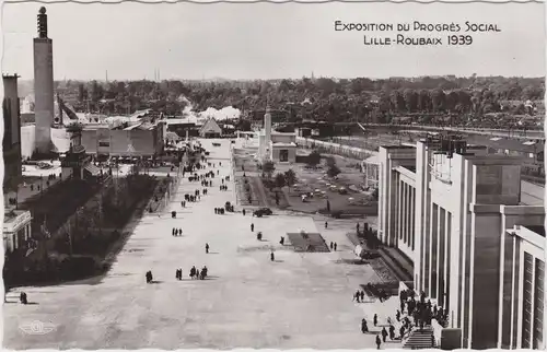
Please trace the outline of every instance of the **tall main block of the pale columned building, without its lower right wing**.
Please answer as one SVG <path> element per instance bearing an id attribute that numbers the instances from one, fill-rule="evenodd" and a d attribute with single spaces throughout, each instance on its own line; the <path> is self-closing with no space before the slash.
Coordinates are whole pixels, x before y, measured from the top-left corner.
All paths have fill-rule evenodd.
<path id="1" fill-rule="evenodd" d="M 380 148 L 379 237 L 410 259 L 415 290 L 449 312 L 463 348 L 499 345 L 502 238 L 545 221 L 521 203 L 522 163 L 457 139 Z"/>

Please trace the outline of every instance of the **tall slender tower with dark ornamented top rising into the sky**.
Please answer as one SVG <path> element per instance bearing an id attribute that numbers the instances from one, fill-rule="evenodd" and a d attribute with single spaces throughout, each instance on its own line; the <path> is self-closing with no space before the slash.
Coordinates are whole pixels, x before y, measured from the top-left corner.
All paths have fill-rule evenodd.
<path id="1" fill-rule="evenodd" d="M 36 120 L 36 150 L 51 150 L 51 125 L 54 125 L 54 50 L 47 37 L 46 8 L 42 7 L 37 20 L 38 36 L 34 38 L 34 101 Z"/>

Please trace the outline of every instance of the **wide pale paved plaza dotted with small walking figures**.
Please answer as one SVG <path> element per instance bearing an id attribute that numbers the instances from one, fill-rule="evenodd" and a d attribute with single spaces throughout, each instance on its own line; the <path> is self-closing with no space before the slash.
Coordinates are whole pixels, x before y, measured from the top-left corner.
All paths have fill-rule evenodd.
<path id="1" fill-rule="evenodd" d="M 232 175 L 230 141 L 212 146 L 209 161 L 222 162 L 220 177 Z M 207 168 L 205 172 L 210 171 Z M 202 172 L 201 172 L 202 173 Z M 219 176 L 200 201 L 181 201 L 202 189 L 199 183 L 181 181 L 162 214 L 146 214 L 129 237 L 113 268 L 102 280 L 44 288 L 22 288 L 28 301 L 21 305 L 19 291 L 8 294 L 3 306 L 4 348 L 8 349 L 363 349 L 375 348 L 373 333 L 362 335 L 364 317 L 393 314 L 392 307 L 357 304 L 352 294 L 360 284 L 379 281 L 366 265 L 352 265 L 352 246 L 335 221 L 326 232 L 310 216 L 277 213 L 267 218 L 235 213 L 214 214 L 213 208 L 235 202 L 233 179 L 220 191 Z M 172 219 L 170 212 L 177 211 Z M 264 233 L 258 242 L 251 223 Z M 317 222 L 318 223 L 318 222 Z M 183 236 L 172 236 L 172 228 Z M 322 232 L 336 240 L 338 251 L 294 253 L 279 244 L 288 232 Z M 210 245 L 206 254 L 205 245 Z M 270 261 L 274 249 L 276 261 Z M 207 266 L 210 278 L 190 280 L 191 266 Z M 183 269 L 183 281 L 175 269 Z M 155 284 L 147 284 L 152 270 Z M 398 300 L 389 300 L 398 301 Z M 33 321 L 54 329 L 24 332 Z M 383 348 L 398 348 L 388 343 Z"/>

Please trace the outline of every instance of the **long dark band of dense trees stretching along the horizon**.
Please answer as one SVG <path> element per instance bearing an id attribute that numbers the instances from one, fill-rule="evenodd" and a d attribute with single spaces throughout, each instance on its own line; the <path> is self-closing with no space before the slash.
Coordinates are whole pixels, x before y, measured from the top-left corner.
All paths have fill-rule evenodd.
<path id="1" fill-rule="evenodd" d="M 59 83 L 65 96 L 79 109 L 126 113 L 156 108 L 179 115 L 190 101 L 197 110 L 234 106 L 243 112 L 271 108 L 289 120 L 302 118 L 344 121 L 382 120 L 398 114 L 473 114 L 521 109 L 526 101 L 540 101 L 542 78 L 421 78 L 370 80 L 272 81 L 131 81 Z"/>

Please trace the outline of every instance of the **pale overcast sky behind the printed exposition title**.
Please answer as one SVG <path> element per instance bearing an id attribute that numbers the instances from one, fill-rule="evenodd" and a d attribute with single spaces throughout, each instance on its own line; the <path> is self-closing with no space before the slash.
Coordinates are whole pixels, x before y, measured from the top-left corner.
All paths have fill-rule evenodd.
<path id="1" fill-rule="evenodd" d="M 40 5 L 4 5 L 3 73 L 33 78 Z M 57 80 L 153 79 L 154 68 L 162 79 L 545 75 L 544 4 L 49 4 L 47 14 Z M 336 20 L 502 32 L 475 34 L 470 47 L 373 47 L 363 32 L 335 32 Z"/>

